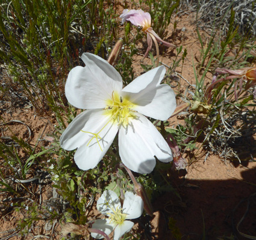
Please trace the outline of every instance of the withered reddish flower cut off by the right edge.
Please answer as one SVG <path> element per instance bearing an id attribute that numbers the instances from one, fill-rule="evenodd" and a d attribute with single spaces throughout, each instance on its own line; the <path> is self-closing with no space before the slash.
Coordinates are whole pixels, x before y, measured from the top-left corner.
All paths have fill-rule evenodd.
<path id="1" fill-rule="evenodd" d="M 216 76 L 218 74 L 228 74 L 229 76 L 222 77 L 219 80 L 216 80 Z M 234 95 L 237 101 L 238 95 L 242 91 L 242 83 L 243 81 L 247 81 L 245 85 L 245 90 L 251 88 L 251 86 L 256 85 L 256 67 L 245 67 L 240 68 L 238 70 L 229 70 L 226 68 L 217 68 L 216 69 L 216 75 L 213 77 L 213 81 L 211 82 L 211 85 L 208 86 L 208 88 L 205 91 L 205 96 L 207 97 L 208 101 L 210 101 L 211 98 L 211 91 L 216 88 L 217 83 L 220 83 L 224 80 L 228 79 L 239 79 L 234 86 Z M 239 92 L 237 92 L 237 85 L 239 83 Z"/>

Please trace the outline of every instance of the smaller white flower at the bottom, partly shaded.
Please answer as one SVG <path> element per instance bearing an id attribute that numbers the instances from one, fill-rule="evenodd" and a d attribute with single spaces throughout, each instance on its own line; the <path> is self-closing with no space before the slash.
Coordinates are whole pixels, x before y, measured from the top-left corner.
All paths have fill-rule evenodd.
<path id="1" fill-rule="evenodd" d="M 107 219 L 97 219 L 92 224 L 93 229 L 99 229 L 109 235 L 114 230 L 114 240 L 120 239 L 126 232 L 130 232 L 134 223 L 126 219 L 138 218 L 143 212 L 143 200 L 141 197 L 126 191 L 123 207 L 121 207 L 116 193 L 106 190 L 97 202 L 97 209 L 108 216 Z M 102 235 L 91 233 L 93 238 L 101 239 Z"/>

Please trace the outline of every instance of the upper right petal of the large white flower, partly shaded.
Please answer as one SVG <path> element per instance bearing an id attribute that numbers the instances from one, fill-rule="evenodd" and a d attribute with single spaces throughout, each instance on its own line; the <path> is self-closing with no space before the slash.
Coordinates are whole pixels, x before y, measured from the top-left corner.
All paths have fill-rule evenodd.
<path id="1" fill-rule="evenodd" d="M 163 66 L 154 68 L 123 88 L 122 97 L 134 104 L 131 109 L 161 121 L 172 115 L 176 108 L 175 94 L 169 85 L 160 85 L 164 74 Z"/>

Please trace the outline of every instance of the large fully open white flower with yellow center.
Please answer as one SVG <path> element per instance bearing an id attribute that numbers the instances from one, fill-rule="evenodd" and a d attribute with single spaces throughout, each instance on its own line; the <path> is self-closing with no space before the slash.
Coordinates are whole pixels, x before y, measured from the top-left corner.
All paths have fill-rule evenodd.
<path id="1" fill-rule="evenodd" d="M 165 68 L 154 68 L 122 89 L 120 74 L 107 61 L 91 53 L 84 53 L 82 59 L 86 67 L 70 71 L 65 91 L 70 104 L 87 110 L 60 137 L 62 148 L 78 148 L 77 166 L 83 170 L 95 167 L 117 131 L 122 162 L 134 172 L 152 172 L 155 157 L 164 163 L 172 161 L 163 136 L 143 116 L 164 121 L 175 110 L 174 92 L 169 85 L 160 85 Z"/>

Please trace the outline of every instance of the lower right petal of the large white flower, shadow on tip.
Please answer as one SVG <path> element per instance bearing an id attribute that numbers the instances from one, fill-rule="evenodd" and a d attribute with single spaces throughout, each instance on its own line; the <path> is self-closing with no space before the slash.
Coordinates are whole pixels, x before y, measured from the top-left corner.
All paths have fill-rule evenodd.
<path id="1" fill-rule="evenodd" d="M 172 152 L 157 128 L 140 113 L 131 119 L 127 128 L 119 128 L 119 155 L 126 167 L 138 173 L 150 173 L 155 157 L 167 163 Z"/>

